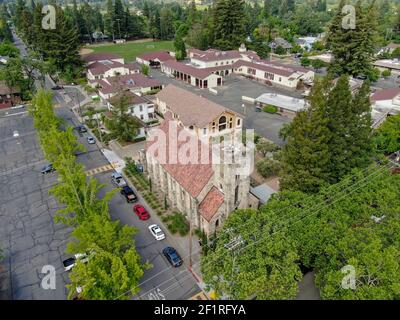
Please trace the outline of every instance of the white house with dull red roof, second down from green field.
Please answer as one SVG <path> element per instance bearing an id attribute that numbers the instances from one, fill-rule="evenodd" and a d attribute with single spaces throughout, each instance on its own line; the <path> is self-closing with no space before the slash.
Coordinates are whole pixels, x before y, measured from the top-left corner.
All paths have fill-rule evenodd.
<path id="1" fill-rule="evenodd" d="M 93 88 L 99 89 L 99 96 L 102 100 L 107 100 L 123 90 L 144 95 L 149 91 L 162 88 L 162 84 L 158 80 L 146 77 L 141 73 L 93 80 L 89 81 L 89 84 Z"/>

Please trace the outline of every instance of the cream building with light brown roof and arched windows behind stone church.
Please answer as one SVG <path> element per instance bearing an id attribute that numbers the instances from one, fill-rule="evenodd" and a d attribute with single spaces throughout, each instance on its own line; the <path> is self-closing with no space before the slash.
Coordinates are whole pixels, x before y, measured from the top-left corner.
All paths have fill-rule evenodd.
<path id="1" fill-rule="evenodd" d="M 239 114 L 172 84 L 157 93 L 156 107 L 161 114 L 170 112 L 180 126 L 200 139 L 242 130 L 243 126 Z"/>

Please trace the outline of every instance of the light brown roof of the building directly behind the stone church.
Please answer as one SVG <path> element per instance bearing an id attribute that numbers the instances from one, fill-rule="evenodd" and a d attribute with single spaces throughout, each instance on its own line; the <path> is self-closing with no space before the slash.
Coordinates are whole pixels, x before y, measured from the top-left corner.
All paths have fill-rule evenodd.
<path id="1" fill-rule="evenodd" d="M 179 116 L 179 120 L 185 126 L 195 125 L 204 128 L 221 113 L 231 112 L 215 102 L 172 84 L 166 86 L 156 96 L 167 104 L 171 112 Z"/>

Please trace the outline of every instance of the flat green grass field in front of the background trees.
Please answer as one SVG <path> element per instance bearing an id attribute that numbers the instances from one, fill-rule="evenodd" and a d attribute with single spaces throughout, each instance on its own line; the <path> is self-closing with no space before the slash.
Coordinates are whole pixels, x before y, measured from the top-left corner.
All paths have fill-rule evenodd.
<path id="1" fill-rule="evenodd" d="M 128 42 L 122 44 L 110 44 L 88 46 L 94 52 L 110 52 L 120 55 L 126 62 L 135 60 L 136 56 L 145 52 L 168 50 L 173 51 L 173 41 Z"/>

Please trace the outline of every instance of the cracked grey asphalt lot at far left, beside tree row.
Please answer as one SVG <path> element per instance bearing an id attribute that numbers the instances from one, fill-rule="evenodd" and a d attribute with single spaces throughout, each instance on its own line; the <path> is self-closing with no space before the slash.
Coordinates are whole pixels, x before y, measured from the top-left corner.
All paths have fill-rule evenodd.
<path id="1" fill-rule="evenodd" d="M 18 131 L 18 137 L 14 137 Z M 0 299 L 65 299 L 62 266 L 70 230 L 55 224 L 58 209 L 48 194 L 55 174 L 43 175 L 44 160 L 32 119 L 26 113 L 0 114 L 0 246 L 5 259 Z M 55 290 L 44 290 L 42 267 L 56 270 Z"/>

